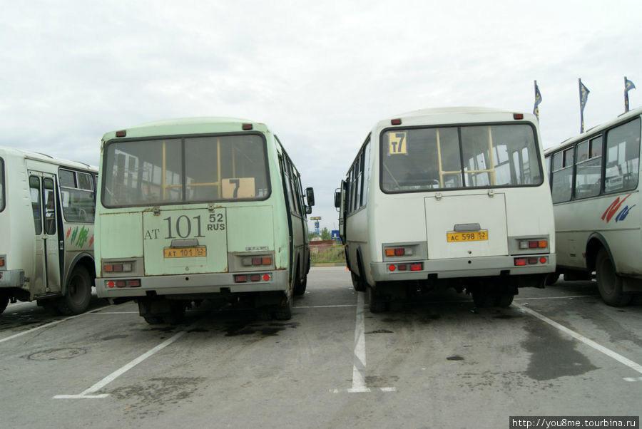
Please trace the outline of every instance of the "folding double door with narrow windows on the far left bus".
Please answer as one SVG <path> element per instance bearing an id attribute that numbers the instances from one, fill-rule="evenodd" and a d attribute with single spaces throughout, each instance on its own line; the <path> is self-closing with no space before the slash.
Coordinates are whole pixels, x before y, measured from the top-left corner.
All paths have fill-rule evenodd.
<path id="1" fill-rule="evenodd" d="M 60 251 L 58 242 L 58 210 L 56 210 L 56 176 L 29 170 L 31 211 L 36 231 L 34 275 L 29 283 L 34 295 L 61 290 Z"/>

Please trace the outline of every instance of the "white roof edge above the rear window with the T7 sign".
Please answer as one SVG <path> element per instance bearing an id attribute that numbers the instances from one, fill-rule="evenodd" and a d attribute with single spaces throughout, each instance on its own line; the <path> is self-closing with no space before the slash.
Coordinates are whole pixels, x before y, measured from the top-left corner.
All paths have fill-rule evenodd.
<path id="1" fill-rule="evenodd" d="M 470 122 L 479 122 L 480 115 L 483 115 L 482 120 L 487 121 L 512 121 L 514 113 L 510 110 L 501 110 L 496 108 L 485 107 L 447 107 L 447 108 L 429 108 L 414 110 L 412 112 L 400 113 L 393 115 L 390 118 L 380 120 L 377 126 L 385 128 L 389 126 L 392 119 L 401 119 L 402 125 L 425 125 L 425 124 L 447 124 L 447 123 L 466 123 L 467 117 Z M 520 112 L 521 113 L 521 112 Z M 525 120 L 534 122 L 535 115 L 532 113 L 521 113 L 524 115 Z"/>

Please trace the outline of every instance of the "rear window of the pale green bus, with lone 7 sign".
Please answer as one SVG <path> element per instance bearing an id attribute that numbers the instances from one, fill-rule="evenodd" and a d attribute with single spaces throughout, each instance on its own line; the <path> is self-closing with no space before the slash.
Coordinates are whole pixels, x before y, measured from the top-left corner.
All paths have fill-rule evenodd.
<path id="1" fill-rule="evenodd" d="M 116 141 L 104 150 L 106 207 L 270 196 L 265 140 L 259 134 Z"/>

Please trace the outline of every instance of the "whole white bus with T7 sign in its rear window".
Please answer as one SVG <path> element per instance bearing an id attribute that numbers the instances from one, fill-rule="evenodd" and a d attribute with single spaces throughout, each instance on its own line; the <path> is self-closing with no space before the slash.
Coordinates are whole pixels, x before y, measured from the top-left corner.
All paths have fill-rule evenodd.
<path id="1" fill-rule="evenodd" d="M 509 306 L 555 267 L 549 185 L 534 115 L 417 110 L 381 120 L 335 206 L 347 266 L 371 311 L 454 287 Z"/>

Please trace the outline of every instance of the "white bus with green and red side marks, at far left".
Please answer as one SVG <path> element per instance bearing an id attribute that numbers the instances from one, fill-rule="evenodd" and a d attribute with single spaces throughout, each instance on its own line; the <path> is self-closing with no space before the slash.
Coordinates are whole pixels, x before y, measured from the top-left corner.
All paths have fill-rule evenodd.
<path id="1" fill-rule="evenodd" d="M 97 172 L 0 148 L 0 313 L 17 300 L 63 314 L 86 311 L 95 277 Z"/>

